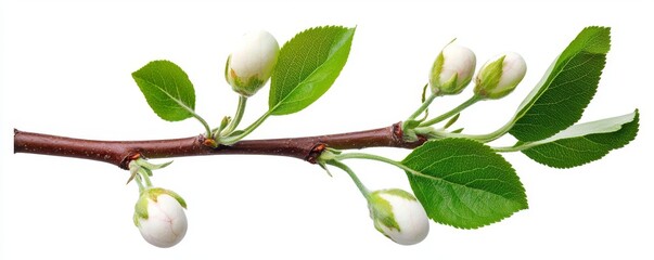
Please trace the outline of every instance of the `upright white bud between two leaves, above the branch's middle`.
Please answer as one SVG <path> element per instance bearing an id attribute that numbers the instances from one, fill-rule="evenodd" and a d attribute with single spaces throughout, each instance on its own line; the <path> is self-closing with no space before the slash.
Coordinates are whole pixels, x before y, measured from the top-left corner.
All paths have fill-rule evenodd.
<path id="1" fill-rule="evenodd" d="M 227 82 L 244 96 L 254 95 L 270 78 L 279 52 L 277 40 L 268 31 L 259 30 L 244 35 L 227 58 Z"/>

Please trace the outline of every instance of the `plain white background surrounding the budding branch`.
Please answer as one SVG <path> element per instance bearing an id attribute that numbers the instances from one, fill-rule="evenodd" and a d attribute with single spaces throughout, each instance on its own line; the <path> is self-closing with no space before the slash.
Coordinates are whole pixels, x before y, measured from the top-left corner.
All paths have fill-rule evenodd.
<path id="1" fill-rule="evenodd" d="M 3 1 L 1 66 L 0 259 L 653 259 L 651 25 L 646 1 L 191 2 Z M 154 182 L 189 203 L 189 232 L 170 249 L 146 244 L 131 216 L 137 187 L 114 166 L 13 154 L 12 131 L 101 140 L 190 136 L 189 119 L 163 121 L 130 77 L 167 58 L 189 74 L 196 110 L 216 125 L 236 96 L 222 77 L 233 42 L 264 28 L 280 43 L 317 25 L 357 26 L 345 69 L 309 108 L 272 117 L 251 138 L 281 138 L 389 126 L 419 105 L 427 70 L 452 38 L 479 65 L 503 51 L 525 57 L 523 84 L 502 101 L 466 110 L 457 126 L 484 133 L 502 125 L 550 62 L 588 25 L 611 26 L 612 50 L 582 120 L 641 109 L 634 142 L 568 170 L 505 157 L 529 209 L 479 230 L 436 223 L 415 246 L 379 234 L 366 202 L 339 171 L 328 177 L 297 159 L 262 156 L 178 158 Z M 267 91 L 245 122 L 266 109 Z M 470 95 L 438 100 L 433 114 Z M 508 139 L 496 145 L 510 144 Z M 401 159 L 408 152 L 372 153 Z M 399 170 L 351 167 L 370 188 L 403 187 Z"/>

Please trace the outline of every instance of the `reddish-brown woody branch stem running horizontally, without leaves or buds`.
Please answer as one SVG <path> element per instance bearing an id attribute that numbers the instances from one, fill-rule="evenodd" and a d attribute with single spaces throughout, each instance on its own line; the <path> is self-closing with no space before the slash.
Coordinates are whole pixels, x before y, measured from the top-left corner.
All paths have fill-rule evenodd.
<path id="1" fill-rule="evenodd" d="M 205 145 L 202 135 L 148 141 L 98 141 L 73 139 L 14 129 L 14 153 L 42 154 L 100 160 L 127 169 L 129 161 L 139 157 L 169 158 L 181 156 L 243 154 L 288 156 L 316 164 L 326 148 L 352 150 L 375 146 L 412 148 L 425 140 L 406 142 L 401 123 L 390 127 L 329 135 L 243 140 L 231 146 L 216 148 Z"/>

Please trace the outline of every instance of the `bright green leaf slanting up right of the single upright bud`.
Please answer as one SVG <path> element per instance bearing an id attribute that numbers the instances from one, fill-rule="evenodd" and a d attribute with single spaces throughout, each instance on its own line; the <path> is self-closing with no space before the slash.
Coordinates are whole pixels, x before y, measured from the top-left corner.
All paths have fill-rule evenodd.
<path id="1" fill-rule="evenodd" d="M 299 112 L 326 92 L 347 62 L 355 28 L 316 27 L 280 50 L 268 100 L 271 115 Z"/>

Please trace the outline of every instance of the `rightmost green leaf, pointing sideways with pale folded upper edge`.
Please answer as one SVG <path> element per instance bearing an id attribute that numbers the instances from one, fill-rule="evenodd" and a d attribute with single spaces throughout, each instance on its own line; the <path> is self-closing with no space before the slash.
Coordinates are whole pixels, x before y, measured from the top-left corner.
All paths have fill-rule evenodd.
<path id="1" fill-rule="evenodd" d="M 557 134 L 518 146 L 529 158 L 555 168 L 570 168 L 600 159 L 627 145 L 638 134 L 639 113 L 575 125 Z"/>

